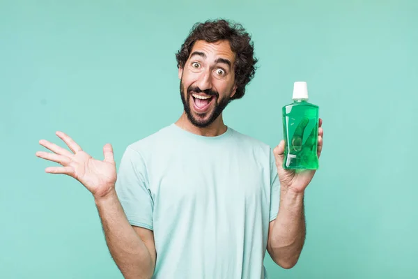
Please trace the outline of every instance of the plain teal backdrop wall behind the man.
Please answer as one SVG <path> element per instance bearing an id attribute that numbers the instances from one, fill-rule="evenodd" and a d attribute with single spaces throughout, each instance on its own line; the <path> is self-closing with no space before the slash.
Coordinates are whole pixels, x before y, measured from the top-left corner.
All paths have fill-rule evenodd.
<path id="1" fill-rule="evenodd" d="M 260 59 L 229 126 L 275 146 L 293 82 L 323 118 L 307 241 L 271 278 L 417 278 L 417 1 L 0 0 L 0 278 L 122 278 L 90 193 L 45 174 L 63 130 L 95 158 L 178 119 L 174 54 L 226 17 Z"/>

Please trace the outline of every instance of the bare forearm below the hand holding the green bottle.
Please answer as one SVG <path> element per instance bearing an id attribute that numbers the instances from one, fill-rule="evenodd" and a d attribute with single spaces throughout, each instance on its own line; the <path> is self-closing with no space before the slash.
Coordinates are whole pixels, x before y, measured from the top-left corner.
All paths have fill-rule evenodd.
<path id="1" fill-rule="evenodd" d="M 270 232 L 272 259 L 287 269 L 295 266 L 304 245 L 306 224 L 303 199 L 303 193 L 281 190 L 279 213 Z"/>

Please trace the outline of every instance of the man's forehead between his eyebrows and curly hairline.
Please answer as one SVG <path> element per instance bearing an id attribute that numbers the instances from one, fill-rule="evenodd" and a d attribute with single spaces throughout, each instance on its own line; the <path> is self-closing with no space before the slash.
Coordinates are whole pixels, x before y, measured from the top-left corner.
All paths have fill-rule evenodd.
<path id="1" fill-rule="evenodd" d="M 229 59 L 232 63 L 235 59 L 235 54 L 231 50 L 231 45 L 229 45 L 228 40 L 218 40 L 214 43 L 208 43 L 206 40 L 197 40 L 190 53 L 192 54 L 196 51 L 204 52 L 208 59 L 217 59 L 222 57 Z"/>

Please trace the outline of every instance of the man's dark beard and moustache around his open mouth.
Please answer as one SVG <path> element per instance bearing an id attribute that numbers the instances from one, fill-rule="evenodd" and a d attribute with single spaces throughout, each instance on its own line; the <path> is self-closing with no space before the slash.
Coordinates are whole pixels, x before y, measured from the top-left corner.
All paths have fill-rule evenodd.
<path id="1" fill-rule="evenodd" d="M 208 96 L 213 96 L 215 98 L 215 107 L 212 110 L 205 113 L 196 113 L 192 112 L 190 100 L 192 100 L 192 92 L 194 93 L 205 93 Z M 183 107 L 187 115 L 187 119 L 196 127 L 206 128 L 217 119 L 217 117 L 224 111 L 225 107 L 231 102 L 229 96 L 225 96 L 222 99 L 219 99 L 219 93 L 211 89 L 201 90 L 197 86 L 189 86 L 187 88 L 187 93 L 184 92 L 183 79 L 180 80 L 180 96 L 183 102 Z"/>

